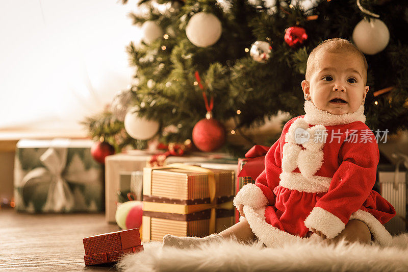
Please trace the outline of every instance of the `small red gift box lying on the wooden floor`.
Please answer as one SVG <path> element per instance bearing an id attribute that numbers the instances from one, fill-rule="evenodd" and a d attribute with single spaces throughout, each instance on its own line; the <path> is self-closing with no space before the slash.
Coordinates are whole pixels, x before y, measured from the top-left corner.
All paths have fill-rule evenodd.
<path id="1" fill-rule="evenodd" d="M 127 253 L 143 250 L 139 229 L 99 234 L 83 239 L 85 265 L 117 262 Z"/>

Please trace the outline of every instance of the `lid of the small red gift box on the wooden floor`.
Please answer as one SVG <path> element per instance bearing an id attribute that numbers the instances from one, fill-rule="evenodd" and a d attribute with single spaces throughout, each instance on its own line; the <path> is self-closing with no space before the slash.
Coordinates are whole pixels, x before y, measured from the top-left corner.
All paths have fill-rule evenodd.
<path id="1" fill-rule="evenodd" d="M 139 229 L 99 234 L 83 239 L 85 255 L 115 252 L 141 245 Z"/>

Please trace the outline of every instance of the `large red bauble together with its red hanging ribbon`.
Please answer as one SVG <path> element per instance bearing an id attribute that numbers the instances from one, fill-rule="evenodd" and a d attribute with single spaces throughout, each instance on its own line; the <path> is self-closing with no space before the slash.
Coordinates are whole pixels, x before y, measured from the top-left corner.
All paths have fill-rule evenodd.
<path id="1" fill-rule="evenodd" d="M 204 87 L 201 84 L 198 72 L 195 72 L 199 87 L 203 90 L 202 96 L 206 103 L 206 118 L 199 120 L 192 133 L 194 145 L 201 151 L 211 152 L 219 149 L 225 143 L 225 128 L 218 120 L 213 118 L 212 110 L 214 108 L 214 97 L 211 96 L 210 104 L 207 100 Z"/>

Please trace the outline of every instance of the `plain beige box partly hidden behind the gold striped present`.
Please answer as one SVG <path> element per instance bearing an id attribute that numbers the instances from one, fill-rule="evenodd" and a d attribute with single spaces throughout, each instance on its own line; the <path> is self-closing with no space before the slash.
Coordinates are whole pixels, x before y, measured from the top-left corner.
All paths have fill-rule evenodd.
<path id="1" fill-rule="evenodd" d="M 148 151 L 128 151 L 128 153 L 119 153 L 107 156 L 105 159 L 105 207 L 106 221 L 110 223 L 116 222 L 115 214 L 118 204 L 118 191 L 120 191 L 121 175 L 125 176 L 125 172 L 143 171 L 143 168 L 149 166 L 149 162 L 154 154 Z M 225 154 L 206 154 L 192 153 L 184 156 L 170 156 L 164 160 L 164 165 L 170 163 L 184 162 L 201 162 L 208 161 L 213 157 L 226 157 Z M 125 177 L 122 177 L 126 179 Z M 120 201 L 119 201 L 120 202 Z"/>

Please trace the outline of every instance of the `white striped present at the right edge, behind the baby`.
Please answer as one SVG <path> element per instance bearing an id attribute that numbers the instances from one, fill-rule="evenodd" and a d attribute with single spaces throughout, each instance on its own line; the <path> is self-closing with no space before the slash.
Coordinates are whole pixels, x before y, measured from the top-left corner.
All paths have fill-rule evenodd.
<path id="1" fill-rule="evenodd" d="M 378 164 L 377 167 L 379 193 L 396 211 L 396 216 L 385 224 L 392 235 L 408 231 L 408 173 L 407 168 L 402 165 L 404 163 L 408 166 L 408 157 L 398 156 L 397 153 L 396 157 L 399 160 L 395 165 Z"/>

